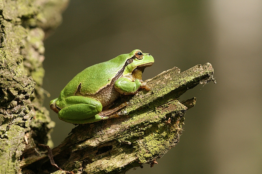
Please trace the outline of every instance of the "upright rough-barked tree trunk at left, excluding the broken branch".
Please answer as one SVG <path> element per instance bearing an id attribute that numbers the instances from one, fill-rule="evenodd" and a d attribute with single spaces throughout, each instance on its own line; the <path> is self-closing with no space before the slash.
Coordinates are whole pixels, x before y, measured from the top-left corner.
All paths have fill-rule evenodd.
<path id="1" fill-rule="evenodd" d="M 42 106 L 43 39 L 66 4 L 0 0 L 0 173 L 18 173 L 36 144 L 52 145 L 54 122 Z"/>

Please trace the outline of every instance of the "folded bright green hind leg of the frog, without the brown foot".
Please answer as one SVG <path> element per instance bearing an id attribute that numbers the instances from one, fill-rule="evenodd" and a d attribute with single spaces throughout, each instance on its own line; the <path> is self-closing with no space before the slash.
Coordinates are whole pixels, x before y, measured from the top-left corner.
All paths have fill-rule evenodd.
<path id="1" fill-rule="evenodd" d="M 58 112 L 59 119 L 72 124 L 97 122 L 102 119 L 98 113 L 102 111 L 102 104 L 88 97 L 70 96 L 57 103 L 64 106 Z"/>

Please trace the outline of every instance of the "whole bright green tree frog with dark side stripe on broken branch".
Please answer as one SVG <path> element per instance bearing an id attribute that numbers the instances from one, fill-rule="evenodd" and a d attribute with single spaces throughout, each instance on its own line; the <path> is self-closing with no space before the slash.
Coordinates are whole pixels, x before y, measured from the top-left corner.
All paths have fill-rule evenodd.
<path id="1" fill-rule="evenodd" d="M 149 91 L 150 87 L 142 81 L 142 73 L 153 63 L 150 54 L 136 49 L 90 66 L 69 81 L 49 106 L 59 119 L 72 124 L 117 117 L 112 113 L 119 109 L 107 108 L 121 95 L 134 95 L 140 88 Z M 127 103 L 121 107 L 125 105 Z"/>

